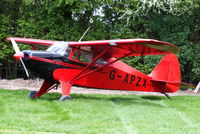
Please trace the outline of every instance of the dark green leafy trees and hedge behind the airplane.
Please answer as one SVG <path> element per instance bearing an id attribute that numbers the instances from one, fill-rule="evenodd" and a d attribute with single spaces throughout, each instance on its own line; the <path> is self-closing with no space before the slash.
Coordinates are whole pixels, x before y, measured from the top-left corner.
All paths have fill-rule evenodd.
<path id="1" fill-rule="evenodd" d="M 6 37 L 49 40 L 152 38 L 180 47 L 183 81 L 200 79 L 200 0 L 1 0 L 0 78 L 20 77 Z M 150 73 L 161 56 L 125 62 Z"/>

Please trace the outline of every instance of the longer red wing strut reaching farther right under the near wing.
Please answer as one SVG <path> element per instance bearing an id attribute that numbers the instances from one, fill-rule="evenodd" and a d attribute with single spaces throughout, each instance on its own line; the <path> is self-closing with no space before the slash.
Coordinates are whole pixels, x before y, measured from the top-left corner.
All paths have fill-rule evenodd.
<path id="1" fill-rule="evenodd" d="M 118 59 L 116 59 L 116 60 L 114 60 L 114 61 L 112 61 L 112 62 L 110 62 L 110 63 L 108 63 L 108 64 L 105 64 L 105 65 L 103 65 L 103 66 L 101 66 L 101 67 L 99 67 L 99 68 L 97 68 L 97 69 L 94 69 L 93 71 L 90 71 L 90 72 L 88 72 L 88 73 L 86 73 L 86 74 L 83 74 L 83 75 L 81 75 L 80 76 L 80 73 L 77 75 L 77 77 L 75 76 L 72 80 L 71 80 L 71 82 L 73 82 L 73 81 L 75 81 L 75 80 L 79 80 L 79 79 L 81 79 L 81 78 L 83 78 L 83 77 L 86 77 L 87 75 L 90 75 L 90 74 L 92 74 L 92 73 L 94 73 L 94 72 L 96 72 L 96 71 L 98 71 L 98 70 L 100 70 L 100 69 L 102 69 L 102 68 L 105 68 L 105 67 L 107 67 L 107 66 L 109 66 L 110 64 L 113 64 L 114 62 L 117 62 L 117 61 L 119 61 L 119 60 L 121 60 L 121 59 L 123 59 L 123 58 L 125 58 L 125 57 L 127 57 L 127 56 L 129 56 L 129 55 L 131 55 L 133 53 L 133 51 L 132 52 L 130 52 L 130 53 L 128 53 L 128 54 L 125 54 L 124 56 L 122 56 L 122 57 L 120 57 L 120 58 L 118 58 Z M 96 58 L 100 58 L 100 56 L 97 56 Z M 95 59 L 96 59 L 95 58 Z M 97 60 L 98 60 L 97 59 Z M 93 61 L 91 62 L 91 63 L 94 63 Z M 90 66 L 91 66 L 91 63 L 88 65 L 88 67 L 87 68 L 89 68 Z M 85 68 L 83 69 L 83 70 L 85 70 Z M 83 72 L 83 71 L 81 71 L 81 72 Z"/>

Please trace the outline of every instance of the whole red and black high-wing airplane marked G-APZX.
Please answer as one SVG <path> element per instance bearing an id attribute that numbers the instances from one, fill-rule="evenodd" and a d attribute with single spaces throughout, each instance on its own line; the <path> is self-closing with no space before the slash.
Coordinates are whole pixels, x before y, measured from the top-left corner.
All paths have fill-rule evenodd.
<path id="1" fill-rule="evenodd" d="M 44 82 L 30 98 L 38 98 L 61 84 L 60 101 L 70 100 L 72 85 L 112 90 L 167 93 L 187 86 L 181 82 L 180 64 L 174 53 L 178 48 L 152 39 L 123 39 L 62 42 L 10 37 L 14 58 L 21 60 L 25 71 L 37 74 Z M 16 42 L 31 45 L 34 50 L 20 51 Z M 36 51 L 35 44 L 49 45 Z M 146 75 L 120 61 L 128 56 L 165 55 L 155 69 Z"/>

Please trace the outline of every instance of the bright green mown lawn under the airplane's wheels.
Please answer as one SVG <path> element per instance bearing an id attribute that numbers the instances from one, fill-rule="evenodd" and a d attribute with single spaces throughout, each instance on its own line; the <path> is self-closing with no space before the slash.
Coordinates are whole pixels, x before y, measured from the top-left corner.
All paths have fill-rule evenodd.
<path id="1" fill-rule="evenodd" d="M 2 134 L 198 134 L 200 97 L 60 94 L 0 89 Z"/>

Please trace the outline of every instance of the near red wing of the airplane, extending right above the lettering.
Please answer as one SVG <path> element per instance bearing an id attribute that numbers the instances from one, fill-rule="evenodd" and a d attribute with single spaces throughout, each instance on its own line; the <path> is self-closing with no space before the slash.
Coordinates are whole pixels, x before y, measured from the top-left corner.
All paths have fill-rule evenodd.
<path id="1" fill-rule="evenodd" d="M 96 53 L 110 47 L 103 55 L 106 57 L 122 57 L 131 52 L 132 54 L 129 56 L 164 55 L 178 51 L 178 47 L 173 44 L 152 39 L 81 41 L 69 42 L 69 45 L 71 47 L 90 47 Z"/>

